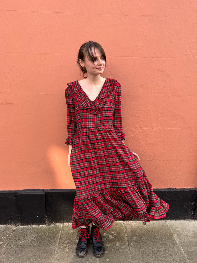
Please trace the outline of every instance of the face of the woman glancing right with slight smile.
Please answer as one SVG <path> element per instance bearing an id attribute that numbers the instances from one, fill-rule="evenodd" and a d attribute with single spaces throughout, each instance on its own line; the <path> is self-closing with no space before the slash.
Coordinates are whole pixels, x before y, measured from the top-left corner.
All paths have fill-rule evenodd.
<path id="1" fill-rule="evenodd" d="M 94 52 L 93 48 L 92 51 Z M 104 60 L 104 57 L 101 55 L 98 48 L 95 48 L 95 55 L 97 58 L 95 62 L 88 60 L 87 56 L 85 57 L 85 61 L 79 60 L 80 65 L 86 68 L 87 74 L 89 75 L 102 74 L 105 69 L 106 61 Z"/>

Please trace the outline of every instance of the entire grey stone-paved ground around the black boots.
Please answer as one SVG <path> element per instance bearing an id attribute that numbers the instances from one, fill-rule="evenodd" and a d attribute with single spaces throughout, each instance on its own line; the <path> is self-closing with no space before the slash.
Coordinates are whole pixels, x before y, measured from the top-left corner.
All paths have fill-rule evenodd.
<path id="1" fill-rule="evenodd" d="M 79 228 L 78 228 L 79 229 Z M 75 248 L 78 229 L 71 224 L 0 225 L 1 263 L 197 263 L 197 221 L 116 221 L 100 230 L 105 254 L 96 258 L 92 243 L 85 258 Z"/>

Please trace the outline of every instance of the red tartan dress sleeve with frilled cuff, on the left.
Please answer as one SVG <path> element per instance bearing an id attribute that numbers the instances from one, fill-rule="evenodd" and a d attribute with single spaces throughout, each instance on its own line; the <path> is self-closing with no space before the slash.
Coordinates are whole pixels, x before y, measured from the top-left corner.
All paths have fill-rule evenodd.
<path id="1" fill-rule="evenodd" d="M 76 116 L 74 109 L 74 101 L 70 96 L 68 87 L 65 90 L 66 105 L 67 105 L 67 131 L 68 137 L 65 144 L 73 144 L 73 137 L 76 132 Z"/>

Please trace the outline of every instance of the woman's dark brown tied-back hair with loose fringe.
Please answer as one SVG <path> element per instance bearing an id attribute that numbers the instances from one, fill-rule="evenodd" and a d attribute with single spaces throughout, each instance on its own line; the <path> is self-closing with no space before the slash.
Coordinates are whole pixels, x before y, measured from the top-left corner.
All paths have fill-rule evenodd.
<path id="1" fill-rule="evenodd" d="M 92 50 L 93 47 L 93 50 Z M 96 57 L 96 52 L 95 52 L 95 48 L 98 48 L 98 50 L 100 51 L 101 55 L 103 56 L 104 60 L 106 61 L 106 55 L 105 55 L 105 51 L 103 49 L 103 47 L 101 47 L 100 44 L 98 44 L 97 42 L 94 41 L 88 41 L 82 44 L 82 46 L 79 49 L 78 52 L 78 59 L 77 59 L 77 65 L 79 66 L 81 72 L 83 72 L 83 77 L 86 79 L 87 77 L 85 76 L 85 74 L 87 73 L 86 68 L 82 67 L 79 63 L 79 60 L 81 59 L 82 61 L 85 61 L 85 57 L 87 56 L 88 60 L 90 60 L 91 62 L 95 62 L 97 57 Z"/>

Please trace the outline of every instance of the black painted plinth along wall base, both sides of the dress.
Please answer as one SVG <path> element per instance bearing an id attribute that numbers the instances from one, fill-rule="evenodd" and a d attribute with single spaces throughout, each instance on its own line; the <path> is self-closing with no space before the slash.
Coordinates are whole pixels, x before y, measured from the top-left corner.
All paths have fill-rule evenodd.
<path id="1" fill-rule="evenodd" d="M 197 219 L 197 189 L 153 189 L 170 206 L 161 220 Z M 0 191 L 0 224 L 68 223 L 75 189 Z"/>

